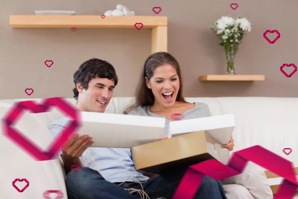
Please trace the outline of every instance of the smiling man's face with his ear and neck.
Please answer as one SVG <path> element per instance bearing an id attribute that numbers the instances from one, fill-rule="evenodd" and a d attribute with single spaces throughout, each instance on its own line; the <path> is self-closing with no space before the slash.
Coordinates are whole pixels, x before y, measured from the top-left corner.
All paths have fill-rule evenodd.
<path id="1" fill-rule="evenodd" d="M 98 77 L 89 81 L 87 90 L 77 84 L 79 95 L 76 106 L 81 111 L 104 112 L 113 97 L 114 88 L 113 80 Z"/>

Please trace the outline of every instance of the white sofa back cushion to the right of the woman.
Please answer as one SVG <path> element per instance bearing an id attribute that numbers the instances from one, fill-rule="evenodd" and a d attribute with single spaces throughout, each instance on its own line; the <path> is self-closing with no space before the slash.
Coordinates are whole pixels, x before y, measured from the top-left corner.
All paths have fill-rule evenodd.
<path id="1" fill-rule="evenodd" d="M 254 145 L 284 157 L 298 167 L 298 98 L 219 98 L 224 114 L 233 113 L 234 151 Z M 286 155 L 284 148 L 292 148 Z"/>

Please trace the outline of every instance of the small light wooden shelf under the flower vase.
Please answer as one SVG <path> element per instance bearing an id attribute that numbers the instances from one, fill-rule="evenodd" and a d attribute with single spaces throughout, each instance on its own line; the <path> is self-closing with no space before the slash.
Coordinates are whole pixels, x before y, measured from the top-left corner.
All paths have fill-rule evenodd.
<path id="1" fill-rule="evenodd" d="M 265 81 L 265 75 L 203 75 L 200 81 Z"/>

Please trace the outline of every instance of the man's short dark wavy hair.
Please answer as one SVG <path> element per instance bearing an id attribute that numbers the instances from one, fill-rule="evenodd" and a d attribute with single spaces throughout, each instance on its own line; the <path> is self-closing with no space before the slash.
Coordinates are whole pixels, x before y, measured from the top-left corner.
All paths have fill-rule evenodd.
<path id="1" fill-rule="evenodd" d="M 74 73 L 74 99 L 78 98 L 78 91 L 76 89 L 76 83 L 80 82 L 83 89 L 88 89 L 88 83 L 94 78 L 107 78 L 113 80 L 115 86 L 118 83 L 118 77 L 112 64 L 105 60 L 92 58 L 83 62 L 78 70 Z"/>

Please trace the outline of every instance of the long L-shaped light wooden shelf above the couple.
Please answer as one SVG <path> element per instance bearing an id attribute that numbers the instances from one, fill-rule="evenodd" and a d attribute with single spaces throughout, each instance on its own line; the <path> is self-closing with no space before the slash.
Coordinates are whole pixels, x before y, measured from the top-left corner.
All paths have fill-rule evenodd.
<path id="1" fill-rule="evenodd" d="M 138 30 L 136 23 L 142 23 Z M 152 29 L 152 53 L 167 52 L 167 16 L 10 15 L 12 28 L 132 28 Z M 137 25 L 140 28 L 139 25 Z"/>

